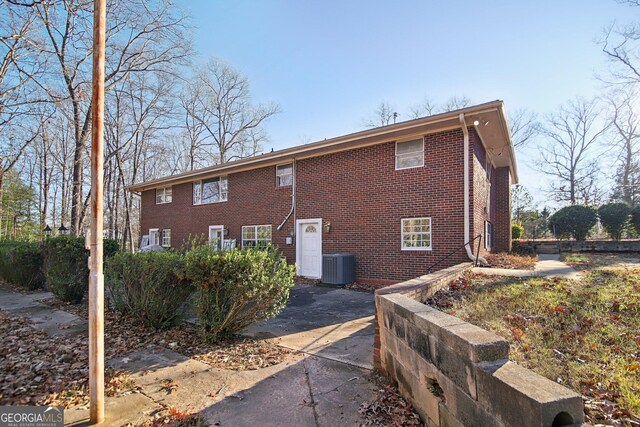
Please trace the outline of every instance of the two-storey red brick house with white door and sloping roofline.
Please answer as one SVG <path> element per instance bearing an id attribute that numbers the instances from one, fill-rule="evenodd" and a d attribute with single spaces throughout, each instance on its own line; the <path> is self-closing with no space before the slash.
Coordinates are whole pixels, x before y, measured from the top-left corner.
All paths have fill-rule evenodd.
<path id="1" fill-rule="evenodd" d="M 463 246 L 476 236 L 480 256 L 510 250 L 515 182 L 503 103 L 493 101 L 130 190 L 141 193 L 150 244 L 180 247 L 196 235 L 236 247 L 271 242 L 315 278 L 322 254 L 350 253 L 358 280 L 392 283 L 457 248 L 436 269 L 469 260 L 478 240 Z"/>

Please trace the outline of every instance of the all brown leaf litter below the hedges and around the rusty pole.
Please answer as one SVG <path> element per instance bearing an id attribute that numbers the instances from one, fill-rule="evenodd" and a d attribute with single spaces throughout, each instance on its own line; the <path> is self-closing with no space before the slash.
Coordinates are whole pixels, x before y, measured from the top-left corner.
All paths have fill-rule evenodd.
<path id="1" fill-rule="evenodd" d="M 87 317 L 83 305 L 56 299 L 43 301 L 60 310 Z M 88 337 L 49 337 L 25 318 L 0 311 L 0 405 L 88 405 Z M 130 319 L 105 312 L 105 359 L 134 351 L 165 347 L 229 370 L 253 370 L 281 363 L 290 350 L 257 339 L 235 338 L 217 344 L 201 340 L 194 325 L 154 331 Z M 140 392 L 126 371 L 105 372 L 105 392 L 116 396 Z M 175 418 L 174 416 L 170 416 Z"/>

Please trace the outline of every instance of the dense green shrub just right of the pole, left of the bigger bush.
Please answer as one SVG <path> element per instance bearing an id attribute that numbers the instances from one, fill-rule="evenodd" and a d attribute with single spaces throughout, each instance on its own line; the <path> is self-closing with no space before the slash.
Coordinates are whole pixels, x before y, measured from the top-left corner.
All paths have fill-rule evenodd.
<path id="1" fill-rule="evenodd" d="M 173 251 L 118 253 L 105 263 L 113 307 L 155 329 L 175 325 L 192 293 L 184 255 Z"/>

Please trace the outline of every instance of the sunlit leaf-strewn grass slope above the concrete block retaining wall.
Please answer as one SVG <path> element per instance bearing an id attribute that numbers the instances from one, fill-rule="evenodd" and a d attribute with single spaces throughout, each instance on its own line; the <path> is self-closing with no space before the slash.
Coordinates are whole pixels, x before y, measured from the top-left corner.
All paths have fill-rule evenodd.
<path id="1" fill-rule="evenodd" d="M 426 303 L 509 340 L 511 360 L 581 393 L 588 423 L 640 425 L 640 269 L 580 281 L 467 273 Z"/>

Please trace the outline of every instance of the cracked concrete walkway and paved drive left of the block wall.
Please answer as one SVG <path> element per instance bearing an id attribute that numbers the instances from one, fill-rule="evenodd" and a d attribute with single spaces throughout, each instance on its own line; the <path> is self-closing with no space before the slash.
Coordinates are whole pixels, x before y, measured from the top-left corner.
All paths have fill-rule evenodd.
<path id="1" fill-rule="evenodd" d="M 51 294 L 21 294 L 0 286 L 0 310 L 35 320 L 51 336 L 86 333 L 77 316 L 41 303 Z M 310 286 L 293 289 L 281 316 L 248 334 L 272 337 L 304 351 L 254 371 L 213 368 L 166 348 L 123 354 L 107 365 L 131 373 L 139 392 L 106 398 L 104 425 L 138 423 L 163 408 L 200 412 L 207 425 L 357 426 L 371 401 L 373 295 Z M 363 318 L 357 316 L 364 315 Z M 171 390 L 163 387 L 170 380 Z M 66 425 L 88 425 L 88 408 L 65 411 Z"/>

